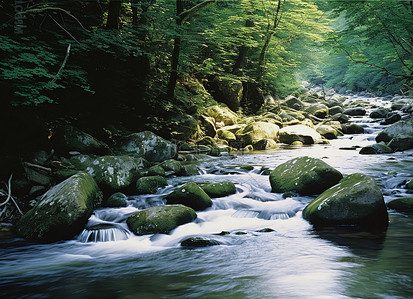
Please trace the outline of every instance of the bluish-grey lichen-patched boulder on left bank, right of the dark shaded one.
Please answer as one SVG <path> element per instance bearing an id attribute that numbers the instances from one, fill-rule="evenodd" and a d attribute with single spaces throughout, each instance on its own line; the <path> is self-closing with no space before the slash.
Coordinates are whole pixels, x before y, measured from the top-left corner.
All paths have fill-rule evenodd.
<path id="1" fill-rule="evenodd" d="M 119 155 L 143 157 L 148 161 L 160 162 L 174 158 L 177 146 L 152 132 L 144 131 L 121 138 L 114 151 Z"/>

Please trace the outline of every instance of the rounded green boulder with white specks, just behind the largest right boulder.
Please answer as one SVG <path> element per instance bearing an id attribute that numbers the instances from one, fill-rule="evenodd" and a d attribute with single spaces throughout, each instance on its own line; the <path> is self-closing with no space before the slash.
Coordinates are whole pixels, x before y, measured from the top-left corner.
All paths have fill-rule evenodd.
<path id="1" fill-rule="evenodd" d="M 313 195 L 334 186 L 342 178 L 338 170 L 320 159 L 298 157 L 278 165 L 270 174 L 270 183 L 272 192 Z"/>

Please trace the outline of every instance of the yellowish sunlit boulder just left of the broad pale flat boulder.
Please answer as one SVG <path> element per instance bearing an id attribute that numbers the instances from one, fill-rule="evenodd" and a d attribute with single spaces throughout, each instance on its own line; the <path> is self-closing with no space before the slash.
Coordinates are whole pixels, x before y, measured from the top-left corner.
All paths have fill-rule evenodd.
<path id="1" fill-rule="evenodd" d="M 236 133 L 237 139 L 245 144 L 254 144 L 261 139 L 277 139 L 279 127 L 275 124 L 254 122 Z"/>

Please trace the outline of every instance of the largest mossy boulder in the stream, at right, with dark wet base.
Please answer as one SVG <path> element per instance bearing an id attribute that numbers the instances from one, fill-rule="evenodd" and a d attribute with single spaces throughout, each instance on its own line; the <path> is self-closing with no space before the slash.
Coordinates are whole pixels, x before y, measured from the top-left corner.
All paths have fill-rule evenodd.
<path id="1" fill-rule="evenodd" d="M 316 227 L 355 225 L 383 229 L 389 222 L 380 188 L 372 177 L 361 173 L 348 175 L 324 191 L 305 207 L 303 217 Z"/>

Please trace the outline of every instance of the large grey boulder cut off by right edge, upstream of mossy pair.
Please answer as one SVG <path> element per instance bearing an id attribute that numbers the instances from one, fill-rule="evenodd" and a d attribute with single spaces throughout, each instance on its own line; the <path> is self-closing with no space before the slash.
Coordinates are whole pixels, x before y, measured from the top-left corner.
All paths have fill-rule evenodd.
<path id="1" fill-rule="evenodd" d="M 394 151 L 413 148 L 413 117 L 388 126 L 376 137 L 376 142 L 389 142 Z M 391 143 L 390 143 L 391 141 Z"/>

